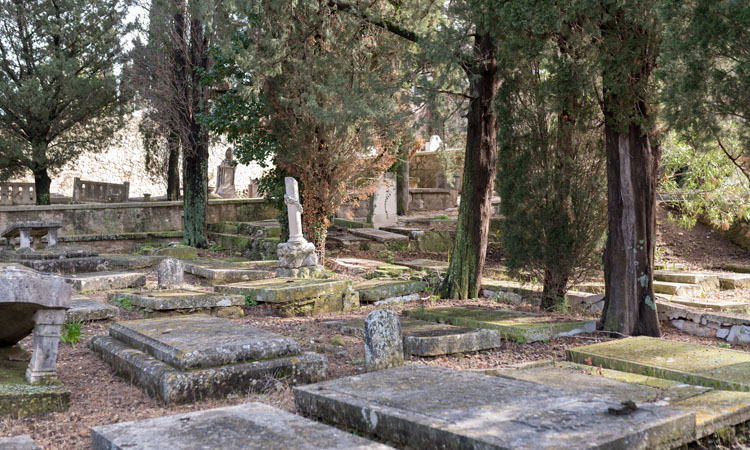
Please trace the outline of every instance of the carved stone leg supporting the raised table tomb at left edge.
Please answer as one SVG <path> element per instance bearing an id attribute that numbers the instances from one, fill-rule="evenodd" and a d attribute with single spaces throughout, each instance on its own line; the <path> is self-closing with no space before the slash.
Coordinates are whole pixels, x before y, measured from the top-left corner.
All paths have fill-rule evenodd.
<path id="1" fill-rule="evenodd" d="M 41 309 L 34 313 L 34 350 L 26 369 L 31 384 L 45 384 L 57 379 L 57 345 L 60 342 L 64 309 Z"/>

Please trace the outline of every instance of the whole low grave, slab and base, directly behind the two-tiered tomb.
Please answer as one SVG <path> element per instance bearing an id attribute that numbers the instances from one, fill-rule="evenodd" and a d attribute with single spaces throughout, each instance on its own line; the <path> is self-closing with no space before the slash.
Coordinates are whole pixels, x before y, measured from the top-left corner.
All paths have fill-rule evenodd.
<path id="1" fill-rule="evenodd" d="M 209 312 L 219 316 L 242 316 L 245 297 L 225 293 L 192 289 L 166 289 L 156 291 L 115 292 L 110 300 L 127 301 L 146 317 L 175 313 Z"/>

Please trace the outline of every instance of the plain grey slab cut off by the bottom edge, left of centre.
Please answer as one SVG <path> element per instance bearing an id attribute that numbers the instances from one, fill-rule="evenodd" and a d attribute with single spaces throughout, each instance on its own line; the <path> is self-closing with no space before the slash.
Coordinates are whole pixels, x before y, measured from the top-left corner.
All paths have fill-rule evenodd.
<path id="1" fill-rule="evenodd" d="M 93 450 L 387 449 L 388 446 L 262 403 L 209 409 L 91 430 Z"/>

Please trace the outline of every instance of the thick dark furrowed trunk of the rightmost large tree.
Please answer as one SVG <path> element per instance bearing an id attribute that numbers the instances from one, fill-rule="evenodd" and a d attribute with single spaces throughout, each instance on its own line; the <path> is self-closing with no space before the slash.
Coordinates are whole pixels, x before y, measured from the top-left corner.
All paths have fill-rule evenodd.
<path id="1" fill-rule="evenodd" d="M 608 119 L 605 114 L 609 232 L 602 327 L 659 336 L 653 285 L 659 149 L 640 126 L 622 134 Z"/>

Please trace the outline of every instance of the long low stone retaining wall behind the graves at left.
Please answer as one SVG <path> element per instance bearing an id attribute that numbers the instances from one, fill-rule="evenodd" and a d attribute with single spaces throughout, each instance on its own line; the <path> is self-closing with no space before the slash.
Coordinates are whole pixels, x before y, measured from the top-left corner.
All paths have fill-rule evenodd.
<path id="1" fill-rule="evenodd" d="M 61 236 L 182 230 L 182 202 L 0 207 L 0 230 L 13 222 L 62 223 Z M 276 217 L 262 199 L 209 200 L 208 222 L 253 222 Z"/>

